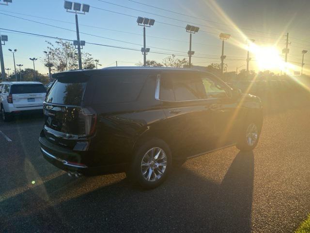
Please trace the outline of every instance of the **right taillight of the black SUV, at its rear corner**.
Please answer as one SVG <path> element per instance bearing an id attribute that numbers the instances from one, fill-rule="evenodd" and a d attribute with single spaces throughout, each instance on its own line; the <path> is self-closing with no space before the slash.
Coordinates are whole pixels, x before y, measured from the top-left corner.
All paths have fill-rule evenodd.
<path id="1" fill-rule="evenodd" d="M 93 109 L 82 108 L 78 115 L 79 136 L 89 136 L 95 133 L 97 115 Z"/>

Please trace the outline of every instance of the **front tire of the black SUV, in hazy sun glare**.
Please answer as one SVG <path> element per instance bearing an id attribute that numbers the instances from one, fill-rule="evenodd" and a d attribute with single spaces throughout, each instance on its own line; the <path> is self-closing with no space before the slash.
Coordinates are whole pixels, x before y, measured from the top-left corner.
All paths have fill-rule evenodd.
<path id="1" fill-rule="evenodd" d="M 255 142 L 251 143 L 248 140 L 247 134 L 248 134 L 248 130 L 249 128 L 252 128 L 253 126 L 256 127 L 257 130 L 257 137 Z M 255 131 L 255 130 L 254 130 Z M 262 131 L 262 123 L 260 123 L 258 120 L 254 120 L 254 119 L 249 119 L 247 120 L 246 124 L 243 126 L 243 128 L 241 129 L 241 132 L 239 134 L 239 140 L 236 144 L 236 147 L 241 150 L 241 151 L 250 151 L 250 150 L 254 150 L 254 148 L 257 146 L 257 143 L 259 141 L 260 138 L 260 134 Z M 253 138 L 253 137 L 252 137 Z M 251 140 L 250 140 L 251 141 Z"/>

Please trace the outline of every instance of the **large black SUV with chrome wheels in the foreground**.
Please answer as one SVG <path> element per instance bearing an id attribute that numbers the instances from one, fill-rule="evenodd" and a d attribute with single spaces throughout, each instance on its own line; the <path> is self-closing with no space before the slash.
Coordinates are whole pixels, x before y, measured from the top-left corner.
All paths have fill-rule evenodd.
<path id="1" fill-rule="evenodd" d="M 207 72 L 111 67 L 53 78 L 39 141 L 47 161 L 71 175 L 125 171 L 154 188 L 172 164 L 259 140 L 261 100 Z"/>

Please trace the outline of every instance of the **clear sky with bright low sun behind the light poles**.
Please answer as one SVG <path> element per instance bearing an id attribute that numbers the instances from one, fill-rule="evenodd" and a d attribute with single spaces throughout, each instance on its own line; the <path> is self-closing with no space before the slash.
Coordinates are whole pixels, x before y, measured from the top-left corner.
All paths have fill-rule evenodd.
<path id="1" fill-rule="evenodd" d="M 245 68 L 248 39 L 255 39 L 249 49 L 252 58 L 249 69 L 256 71 L 280 72 L 282 60 L 275 60 L 279 60 L 281 50 L 285 48 L 286 33 L 289 33 L 289 72 L 300 71 L 301 51 L 310 50 L 309 0 L 76 1 L 91 6 L 89 13 L 78 15 L 80 39 L 86 41 L 82 51 L 99 59 L 102 67 L 115 66 L 116 61 L 119 66 L 143 62 L 140 52 L 143 27 L 137 25 L 138 16 L 155 19 L 154 26 L 146 28 L 146 47 L 151 49 L 147 59 L 157 62 L 170 54 L 177 54 L 181 59 L 187 56 L 189 33 L 186 33 L 186 24 L 200 27 L 200 31 L 192 35 L 192 50 L 195 51 L 192 63 L 195 66 L 220 63 L 222 41 L 219 33 L 231 34 L 224 45 L 227 71 Z M 42 60 L 43 51 L 47 49 L 46 40 L 52 43 L 56 40 L 7 30 L 74 40 L 75 16 L 66 12 L 63 3 L 63 0 L 13 0 L 8 6 L 0 5 L 0 33 L 9 38 L 2 46 L 6 68 L 14 70 L 13 56 L 8 49 L 17 49 L 16 64 L 32 68 L 29 58 L 36 57 L 36 69 L 44 74 L 48 72 Z M 310 52 L 305 54 L 304 73 L 307 74 L 310 74 L 309 56 Z"/>

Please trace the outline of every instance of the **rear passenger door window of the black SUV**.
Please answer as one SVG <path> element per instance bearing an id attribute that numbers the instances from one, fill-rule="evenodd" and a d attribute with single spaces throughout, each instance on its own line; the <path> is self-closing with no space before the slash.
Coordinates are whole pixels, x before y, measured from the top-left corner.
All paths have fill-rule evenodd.
<path id="1" fill-rule="evenodd" d="M 206 99 L 202 79 L 195 74 L 174 73 L 160 79 L 159 99 L 185 101 Z"/>

